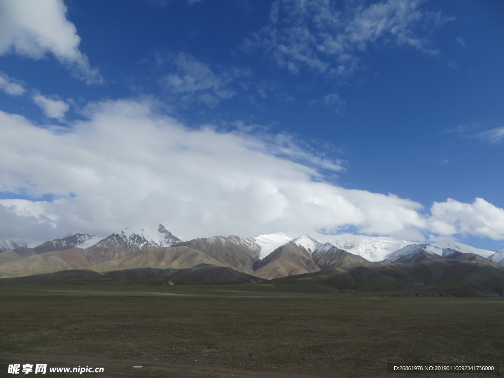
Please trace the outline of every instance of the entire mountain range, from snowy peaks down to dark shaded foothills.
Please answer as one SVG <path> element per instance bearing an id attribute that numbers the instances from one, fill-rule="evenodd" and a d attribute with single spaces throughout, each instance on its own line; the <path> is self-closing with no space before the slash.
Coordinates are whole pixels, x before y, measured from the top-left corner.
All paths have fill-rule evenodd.
<path id="1" fill-rule="evenodd" d="M 38 245 L 3 240 L 0 247 L 0 277 L 7 278 L 0 281 L 11 283 L 52 274 L 63 281 L 274 280 L 283 287 L 310 282 L 337 289 L 449 288 L 477 296 L 502 296 L 504 291 L 504 249 L 494 253 L 454 241 L 421 243 L 317 232 L 182 241 L 159 224 L 128 227 L 105 238 L 77 233 Z"/>

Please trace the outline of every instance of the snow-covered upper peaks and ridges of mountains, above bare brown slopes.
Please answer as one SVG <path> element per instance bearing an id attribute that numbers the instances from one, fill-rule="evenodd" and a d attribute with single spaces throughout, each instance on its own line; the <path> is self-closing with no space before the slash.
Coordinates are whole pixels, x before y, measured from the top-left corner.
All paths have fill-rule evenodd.
<path id="1" fill-rule="evenodd" d="M 497 253 L 493 251 L 479 249 L 459 243 L 456 241 L 437 241 L 433 243 L 413 242 L 402 240 L 388 236 L 365 236 L 353 234 L 339 234 L 339 235 L 325 235 L 318 232 L 309 231 L 289 231 L 277 232 L 273 234 L 262 234 L 256 237 L 243 237 L 243 236 L 213 236 L 204 239 L 194 239 L 192 241 L 182 242 L 179 238 L 174 236 L 163 225 L 146 226 L 146 227 L 127 227 L 121 231 L 114 232 L 108 237 L 92 236 L 89 234 L 77 233 L 66 238 L 54 239 L 44 243 L 34 243 L 33 245 L 16 243 L 8 240 L 0 240 L 0 252 L 8 249 L 17 248 L 19 246 L 33 248 L 36 253 L 42 253 L 50 250 L 64 250 L 72 247 L 80 248 L 107 248 L 107 249 L 128 249 L 141 250 L 147 247 L 169 247 L 176 244 L 188 245 L 189 243 L 213 244 L 210 249 L 224 248 L 231 253 L 231 249 L 240 249 L 240 254 L 246 250 L 248 259 L 254 261 L 263 260 L 268 257 L 273 251 L 282 245 L 293 242 L 298 246 L 302 246 L 310 254 L 316 250 L 321 253 L 320 248 L 329 250 L 331 247 L 348 251 L 353 255 L 363 257 L 371 262 L 379 261 L 396 261 L 400 256 L 410 255 L 415 251 L 424 248 L 431 253 L 443 255 L 444 251 L 458 251 L 464 254 L 476 254 L 484 258 L 490 258 L 496 262 L 502 263 L 504 261 L 504 251 L 500 250 Z M 229 244 L 225 247 L 226 244 Z M 38 244 L 38 245 L 37 245 Z M 322 245 L 325 246 L 323 247 Z M 234 247 L 231 248 L 231 245 Z M 414 247 L 414 245 L 421 245 L 421 247 Z M 200 246 L 203 248 L 203 246 Z M 420 249 L 418 249 L 420 248 Z M 448 252 L 447 252 L 448 253 Z M 214 255 L 217 252 L 214 253 Z M 403 259 L 404 260 L 404 259 Z M 247 266 L 248 266 L 247 262 Z"/>

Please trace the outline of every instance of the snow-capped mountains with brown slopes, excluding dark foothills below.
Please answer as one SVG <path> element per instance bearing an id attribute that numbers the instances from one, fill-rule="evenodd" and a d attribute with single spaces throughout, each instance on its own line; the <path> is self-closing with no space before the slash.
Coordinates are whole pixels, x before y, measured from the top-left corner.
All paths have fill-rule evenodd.
<path id="1" fill-rule="evenodd" d="M 38 244 L 0 252 L 0 275 L 53 272 L 61 267 L 95 269 L 99 264 L 110 268 L 116 266 L 110 262 L 130 257 L 137 260 L 126 259 L 116 268 L 134 269 L 142 261 L 142 268 L 178 269 L 199 262 L 266 279 L 353 265 L 368 269 L 367 265 L 374 262 L 424 264 L 436 260 L 449 264 L 446 261 L 451 260 L 498 269 L 499 263 L 504 264 L 504 250 L 492 253 L 455 241 L 429 244 L 384 236 L 290 231 L 256 237 L 212 236 L 183 242 L 161 224 L 128 227 L 105 238 L 75 234 Z M 17 245 L 20 244 L 4 242 L 9 249 Z M 156 254 L 170 259 L 164 259 L 160 265 Z"/>

